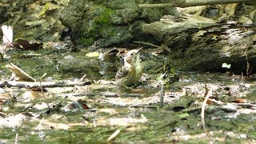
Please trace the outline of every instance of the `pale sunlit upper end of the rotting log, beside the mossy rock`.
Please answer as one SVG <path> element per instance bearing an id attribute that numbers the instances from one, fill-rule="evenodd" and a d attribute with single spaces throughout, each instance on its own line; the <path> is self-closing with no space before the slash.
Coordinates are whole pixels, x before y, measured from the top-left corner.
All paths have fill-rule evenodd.
<path id="1" fill-rule="evenodd" d="M 210 18 L 194 17 L 190 14 L 183 14 L 178 18 L 166 15 L 161 18 L 161 21 L 145 24 L 142 26 L 142 30 L 145 34 L 152 34 L 154 37 L 157 37 L 157 39 L 163 40 L 166 46 L 170 46 L 173 41 L 177 39 L 172 36 L 174 34 L 180 34 L 179 36 L 175 35 L 175 37 L 181 38 L 187 35 L 182 35 L 182 32 L 186 32 L 186 30 L 198 31 L 202 28 L 217 25 L 218 24 Z"/>

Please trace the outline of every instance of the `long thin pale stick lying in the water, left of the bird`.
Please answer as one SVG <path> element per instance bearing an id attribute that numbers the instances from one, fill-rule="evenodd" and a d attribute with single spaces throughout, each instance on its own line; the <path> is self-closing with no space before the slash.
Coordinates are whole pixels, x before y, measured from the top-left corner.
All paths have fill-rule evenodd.
<path id="1" fill-rule="evenodd" d="M 84 86 L 90 85 L 91 81 L 86 82 L 71 82 L 71 81 L 58 81 L 58 82 L 14 82 L 14 81 L 2 81 L 0 82 L 0 87 L 26 87 L 26 88 L 34 88 L 34 87 L 59 87 L 59 86 Z"/>

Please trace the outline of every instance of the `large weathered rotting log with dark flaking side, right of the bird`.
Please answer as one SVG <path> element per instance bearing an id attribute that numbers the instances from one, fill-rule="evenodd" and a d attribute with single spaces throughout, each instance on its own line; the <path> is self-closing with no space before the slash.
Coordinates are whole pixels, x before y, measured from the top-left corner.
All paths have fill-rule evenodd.
<path id="1" fill-rule="evenodd" d="M 218 24 L 185 15 L 150 23 L 143 30 L 169 46 L 170 59 L 178 70 L 219 71 L 224 70 L 222 63 L 226 62 L 231 70 L 248 74 L 256 66 L 254 25 Z"/>

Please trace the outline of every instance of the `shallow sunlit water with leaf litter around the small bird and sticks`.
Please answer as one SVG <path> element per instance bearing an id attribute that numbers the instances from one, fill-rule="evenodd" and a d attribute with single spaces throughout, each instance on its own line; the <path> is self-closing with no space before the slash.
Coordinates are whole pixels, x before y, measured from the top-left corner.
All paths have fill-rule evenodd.
<path id="1" fill-rule="evenodd" d="M 98 58 L 86 58 L 84 54 L 66 53 L 42 55 L 33 58 L 10 58 L 3 62 L 2 78 L 10 77 L 3 66 L 9 62 L 20 66 L 34 78 L 47 73 L 54 81 L 62 79 L 86 78 L 113 80 L 112 74 L 100 74 Z M 54 60 L 53 60 L 54 59 Z M 46 143 L 105 143 L 115 130 L 121 130 L 114 142 L 255 142 L 256 125 L 254 106 L 237 106 L 237 110 L 222 109 L 211 103 L 206 106 L 206 130 L 202 130 L 201 104 L 206 94 L 206 85 L 213 88 L 212 99 L 219 102 L 234 102 L 237 99 L 250 100 L 255 104 L 255 82 L 245 81 L 239 76 L 220 73 L 180 72 L 179 82 L 166 88 L 165 103 L 159 107 L 159 90 L 150 85 L 138 86 L 133 90 L 119 90 L 113 84 L 46 88 L 42 96 L 34 92 L 34 98 L 25 98 L 29 89 L 2 89 L 3 112 L 7 117 L 19 114 L 30 104 L 47 102 L 50 107 L 61 102 L 59 110 L 46 114 L 47 106 L 26 109 L 26 112 L 40 114 L 39 117 L 24 120 L 22 125 L 0 129 L 2 142 L 46 142 Z M 205 85 L 206 84 L 206 85 Z M 186 94 L 182 94 L 186 90 Z M 14 96 L 12 101 L 8 94 Z M 62 94 L 88 92 L 113 92 L 141 94 L 139 98 L 108 98 L 105 96 L 81 96 L 64 98 Z M 36 96 L 35 96 L 36 95 Z M 45 98 L 43 98 L 45 97 Z M 147 98 L 147 99 L 146 99 Z M 90 109 L 77 108 L 68 111 L 65 106 L 81 99 Z M 136 106 L 138 107 L 136 107 Z M 139 105 L 152 106 L 145 108 Z M 134 107 L 135 106 L 135 107 Z M 43 119 L 42 119 L 43 118 Z M 18 135 L 17 135 L 18 134 Z"/>

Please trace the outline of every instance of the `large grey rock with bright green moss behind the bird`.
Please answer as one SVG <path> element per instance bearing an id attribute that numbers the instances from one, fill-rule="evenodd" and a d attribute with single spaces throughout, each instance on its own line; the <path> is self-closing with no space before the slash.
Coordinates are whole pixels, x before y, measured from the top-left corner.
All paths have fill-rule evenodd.
<path id="1" fill-rule="evenodd" d="M 76 44 L 89 46 L 96 41 L 98 46 L 124 45 L 143 37 L 142 24 L 156 21 L 173 11 L 170 8 L 142 10 L 138 4 L 135 0 L 71 0 L 59 17 L 71 30 Z"/>

